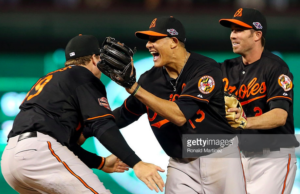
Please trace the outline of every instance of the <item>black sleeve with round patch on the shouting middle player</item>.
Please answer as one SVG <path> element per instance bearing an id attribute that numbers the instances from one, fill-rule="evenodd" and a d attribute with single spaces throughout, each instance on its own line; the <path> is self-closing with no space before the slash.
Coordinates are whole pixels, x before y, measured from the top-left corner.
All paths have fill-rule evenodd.
<path id="1" fill-rule="evenodd" d="M 219 68 L 207 68 L 205 71 L 198 71 L 186 83 L 175 103 L 188 120 L 195 115 L 201 103 L 208 104 L 222 87 L 222 72 Z"/>

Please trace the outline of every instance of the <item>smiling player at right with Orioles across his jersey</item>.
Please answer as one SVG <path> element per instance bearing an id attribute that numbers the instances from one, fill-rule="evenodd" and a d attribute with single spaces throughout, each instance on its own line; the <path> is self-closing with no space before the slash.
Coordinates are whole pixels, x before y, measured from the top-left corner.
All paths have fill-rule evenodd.
<path id="1" fill-rule="evenodd" d="M 225 60 L 221 68 L 224 90 L 238 97 L 248 118 L 239 137 L 248 194 L 288 194 L 299 146 L 294 136 L 293 75 L 281 58 L 264 49 L 267 22 L 258 10 L 240 8 L 220 24 L 231 28 L 233 52 L 241 55 Z"/>

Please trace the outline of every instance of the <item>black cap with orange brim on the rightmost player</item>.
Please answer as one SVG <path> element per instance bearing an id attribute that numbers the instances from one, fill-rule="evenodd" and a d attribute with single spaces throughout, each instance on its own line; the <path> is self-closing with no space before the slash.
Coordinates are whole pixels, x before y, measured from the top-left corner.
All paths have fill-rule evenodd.
<path id="1" fill-rule="evenodd" d="M 265 37 L 267 32 L 267 20 L 258 10 L 252 8 L 240 8 L 233 15 L 232 19 L 221 19 L 222 26 L 231 28 L 231 24 L 243 26 L 245 28 L 262 31 Z"/>

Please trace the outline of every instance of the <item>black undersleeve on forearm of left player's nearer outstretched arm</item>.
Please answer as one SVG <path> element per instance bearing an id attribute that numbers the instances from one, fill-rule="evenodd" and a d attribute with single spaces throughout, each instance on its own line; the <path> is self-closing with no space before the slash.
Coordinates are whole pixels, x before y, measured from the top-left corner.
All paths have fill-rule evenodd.
<path id="1" fill-rule="evenodd" d="M 118 127 L 111 127 L 101 134 L 101 136 L 97 135 L 96 137 L 111 153 L 118 156 L 118 158 L 131 168 L 141 161 L 141 159 L 128 146 Z"/>

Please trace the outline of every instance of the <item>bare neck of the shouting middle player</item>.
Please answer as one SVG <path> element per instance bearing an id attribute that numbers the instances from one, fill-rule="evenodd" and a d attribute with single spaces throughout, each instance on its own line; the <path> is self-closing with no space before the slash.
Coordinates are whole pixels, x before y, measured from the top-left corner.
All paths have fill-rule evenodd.
<path id="1" fill-rule="evenodd" d="M 165 68 L 171 78 L 176 79 L 179 76 L 189 56 L 190 53 L 185 49 L 182 49 L 182 51 L 173 54 L 172 61 L 169 64 L 165 65 Z"/>

